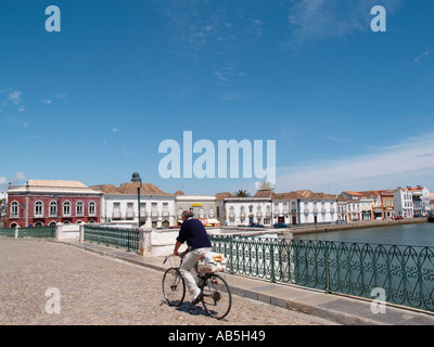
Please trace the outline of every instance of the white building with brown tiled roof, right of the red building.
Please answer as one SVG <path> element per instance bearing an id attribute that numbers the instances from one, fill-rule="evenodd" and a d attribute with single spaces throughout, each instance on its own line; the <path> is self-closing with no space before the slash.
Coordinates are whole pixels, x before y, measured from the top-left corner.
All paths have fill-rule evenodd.
<path id="1" fill-rule="evenodd" d="M 94 185 L 101 189 L 101 221 L 105 223 L 139 223 L 137 183 Z M 142 183 L 140 188 L 140 226 L 148 228 L 169 228 L 177 226 L 175 195 L 162 191 L 153 183 Z"/>

